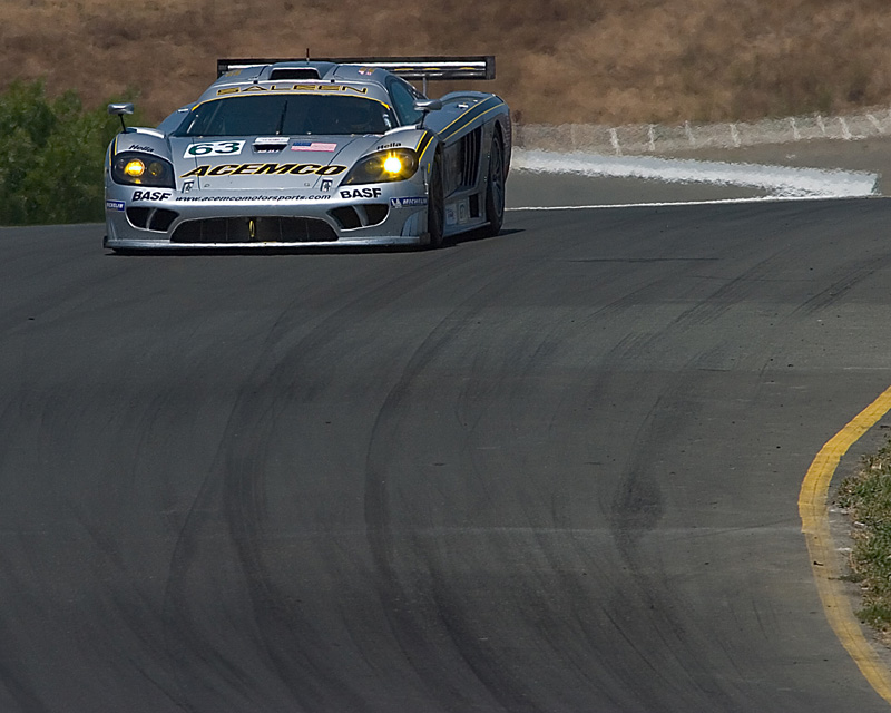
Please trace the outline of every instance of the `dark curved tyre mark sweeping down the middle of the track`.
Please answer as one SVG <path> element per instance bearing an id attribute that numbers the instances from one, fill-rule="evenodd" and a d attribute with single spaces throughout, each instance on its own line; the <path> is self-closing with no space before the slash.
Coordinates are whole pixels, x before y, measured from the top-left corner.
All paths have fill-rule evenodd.
<path id="1" fill-rule="evenodd" d="M 390 629 L 419 682 L 440 705 L 456 713 L 479 706 L 479 692 L 460 685 L 454 680 L 454 666 L 446 663 L 456 657 L 469 674 L 470 678 L 464 676 L 464 680 L 480 684 L 492 705 L 521 711 L 529 710 L 529 702 L 522 695 L 521 682 L 513 681 L 507 685 L 505 672 L 488 666 L 483 646 L 463 621 L 460 597 L 447 594 L 449 587 L 438 574 L 430 553 L 410 533 L 403 530 L 396 536 L 398 522 L 394 520 L 399 516 L 394 512 L 393 499 L 398 497 L 399 481 L 395 461 L 403 450 L 404 436 L 401 432 L 408 424 L 415 381 L 498 293 L 511 289 L 513 281 L 521 277 L 516 267 L 502 267 L 429 332 L 382 403 L 366 456 L 366 537 Z M 435 418 L 442 421 L 453 418 L 453 414 L 441 409 Z M 415 602 L 415 605 L 408 607 L 407 602 Z M 452 673 L 443 676 L 443 671 Z"/>

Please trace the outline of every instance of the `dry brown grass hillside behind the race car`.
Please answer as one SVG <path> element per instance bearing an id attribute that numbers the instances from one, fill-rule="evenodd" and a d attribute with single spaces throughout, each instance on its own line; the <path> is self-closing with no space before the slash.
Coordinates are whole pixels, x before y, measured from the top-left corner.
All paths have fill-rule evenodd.
<path id="1" fill-rule="evenodd" d="M 889 0 L 0 0 L 0 89 L 45 77 L 153 120 L 217 57 L 495 53 L 528 123 L 672 123 L 891 101 Z M 438 94 L 437 88 L 431 94 Z"/>

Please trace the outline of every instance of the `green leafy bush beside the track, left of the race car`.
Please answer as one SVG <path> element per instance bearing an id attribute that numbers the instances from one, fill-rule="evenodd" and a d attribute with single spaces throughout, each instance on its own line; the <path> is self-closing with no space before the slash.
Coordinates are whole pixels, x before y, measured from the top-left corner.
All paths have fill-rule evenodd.
<path id="1" fill-rule="evenodd" d="M 42 81 L 0 95 L 0 225 L 104 219 L 102 164 L 120 128 L 75 91 L 49 99 Z"/>

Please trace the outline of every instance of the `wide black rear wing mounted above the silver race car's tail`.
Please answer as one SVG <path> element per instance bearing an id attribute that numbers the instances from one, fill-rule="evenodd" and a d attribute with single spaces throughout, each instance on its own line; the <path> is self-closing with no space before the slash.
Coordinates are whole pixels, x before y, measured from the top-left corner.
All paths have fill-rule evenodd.
<path id="1" fill-rule="evenodd" d="M 495 56 L 476 57 L 313 57 L 274 59 L 217 59 L 216 76 L 222 77 L 233 69 L 275 65 L 276 62 L 334 62 L 336 65 L 362 65 L 385 69 L 403 79 L 495 79 Z"/>

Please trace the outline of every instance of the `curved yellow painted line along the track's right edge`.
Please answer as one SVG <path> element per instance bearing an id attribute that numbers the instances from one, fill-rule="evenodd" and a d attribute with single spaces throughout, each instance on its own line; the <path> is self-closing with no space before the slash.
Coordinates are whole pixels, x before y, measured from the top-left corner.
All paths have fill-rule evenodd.
<path id="1" fill-rule="evenodd" d="M 826 619 L 870 685 L 891 703 L 891 672 L 882 665 L 863 636 L 860 622 L 839 585 L 841 573 L 836 566 L 835 545 L 829 531 L 826 505 L 829 484 L 842 456 L 889 410 L 891 410 L 891 387 L 820 449 L 801 484 L 799 514 L 801 531 L 807 541 L 811 568 Z"/>

